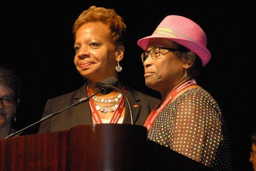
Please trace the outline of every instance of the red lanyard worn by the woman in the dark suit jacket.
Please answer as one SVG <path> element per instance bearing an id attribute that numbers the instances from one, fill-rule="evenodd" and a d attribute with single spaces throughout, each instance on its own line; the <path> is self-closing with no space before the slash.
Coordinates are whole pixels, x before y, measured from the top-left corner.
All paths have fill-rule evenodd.
<path id="1" fill-rule="evenodd" d="M 124 87 L 122 88 L 122 92 L 125 93 Z M 91 96 L 90 88 L 88 85 L 87 85 L 87 93 L 88 93 L 88 97 Z M 94 120 L 94 123 L 102 123 L 102 119 L 94 106 L 92 98 L 90 98 L 89 104 L 90 104 L 90 111 L 91 111 L 91 115 Z M 112 119 L 110 120 L 110 123 L 117 123 L 120 119 L 120 116 L 121 116 L 123 110 L 124 110 L 124 97 L 122 97 L 120 104 L 117 107 L 117 110 L 114 112 L 114 115 L 113 115 Z"/>

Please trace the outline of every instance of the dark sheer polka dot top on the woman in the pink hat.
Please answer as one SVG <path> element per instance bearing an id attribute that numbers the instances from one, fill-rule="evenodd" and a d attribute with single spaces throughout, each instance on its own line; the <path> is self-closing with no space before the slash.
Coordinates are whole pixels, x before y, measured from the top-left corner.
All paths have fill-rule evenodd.
<path id="1" fill-rule="evenodd" d="M 232 170 L 225 120 L 204 89 L 189 89 L 169 103 L 148 138 L 216 170 Z"/>

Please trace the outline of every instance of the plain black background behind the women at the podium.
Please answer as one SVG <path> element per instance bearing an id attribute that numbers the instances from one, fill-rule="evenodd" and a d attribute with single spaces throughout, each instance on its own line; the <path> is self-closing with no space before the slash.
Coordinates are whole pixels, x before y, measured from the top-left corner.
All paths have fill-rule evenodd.
<path id="1" fill-rule="evenodd" d="M 207 34 L 212 59 L 198 78 L 217 100 L 229 126 L 234 170 L 251 171 L 250 134 L 255 130 L 255 4 L 186 1 L 2 2 L 0 65 L 15 70 L 22 94 L 17 128 L 41 118 L 47 99 L 83 85 L 73 64 L 72 26 L 91 5 L 113 8 L 127 25 L 121 76 L 134 89 L 159 97 L 144 84 L 143 52 L 136 42 L 153 33 L 166 15 L 182 15 Z M 38 126 L 24 134 L 35 134 Z"/>

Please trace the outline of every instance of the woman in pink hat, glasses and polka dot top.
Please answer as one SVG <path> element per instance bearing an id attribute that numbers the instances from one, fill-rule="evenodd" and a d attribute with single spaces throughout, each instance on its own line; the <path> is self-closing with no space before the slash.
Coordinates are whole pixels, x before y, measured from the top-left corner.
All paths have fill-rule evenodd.
<path id="1" fill-rule="evenodd" d="M 148 138 L 217 170 L 232 170 L 228 130 L 217 102 L 196 77 L 211 59 L 204 31 L 190 19 L 169 15 L 138 41 L 146 85 L 162 102 L 144 124 Z"/>

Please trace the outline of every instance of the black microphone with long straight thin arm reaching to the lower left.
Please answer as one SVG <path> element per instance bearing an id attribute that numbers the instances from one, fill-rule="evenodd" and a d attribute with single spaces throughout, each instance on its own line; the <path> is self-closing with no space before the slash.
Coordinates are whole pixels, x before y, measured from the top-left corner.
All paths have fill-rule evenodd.
<path id="1" fill-rule="evenodd" d="M 100 84 L 101 84 L 101 85 L 109 85 L 109 86 L 117 85 L 117 78 L 115 78 L 115 79 L 116 79 L 116 80 L 114 80 L 114 79 L 112 79 L 112 78 L 111 78 L 111 79 L 106 78 L 106 79 L 103 80 Z M 65 111 L 65 110 L 69 109 L 69 108 L 73 108 L 73 107 L 75 107 L 75 106 L 77 106 L 77 105 L 79 105 L 79 104 L 82 104 L 82 103 L 85 103 L 85 102 L 89 101 L 91 97 L 94 97 L 96 94 L 98 94 L 98 93 L 100 93 L 100 92 L 102 92 L 102 94 L 103 94 L 103 93 L 108 94 L 108 93 L 111 93 L 112 91 L 113 91 L 113 90 L 109 89 L 108 87 L 104 87 L 104 88 L 102 88 L 102 89 L 99 89 L 99 91 L 96 92 L 96 93 L 94 93 L 93 95 L 91 95 L 91 96 L 89 96 L 89 97 L 83 97 L 82 99 L 80 99 L 80 100 L 79 100 L 78 102 L 76 102 L 75 104 L 72 104 L 72 105 L 68 106 L 67 108 L 62 109 L 62 110 L 60 110 L 59 112 L 55 112 L 55 113 L 49 114 L 49 115 L 45 116 L 44 118 L 40 119 L 38 122 L 35 122 L 35 123 L 33 123 L 33 124 L 31 124 L 31 125 L 29 125 L 29 126 L 23 128 L 23 129 L 21 129 L 21 130 L 18 130 L 17 132 L 8 135 L 8 136 L 5 137 L 5 138 L 10 138 L 10 137 L 14 137 L 14 136 L 16 136 L 16 135 L 19 135 L 19 134 L 23 133 L 25 130 L 28 130 L 29 128 L 31 128 L 31 127 L 37 125 L 38 123 L 41 123 L 41 122 L 45 121 L 46 119 L 49 119 L 49 118 L 51 118 L 51 117 L 53 117 L 53 116 L 59 114 L 60 112 L 63 112 L 63 111 Z"/>

